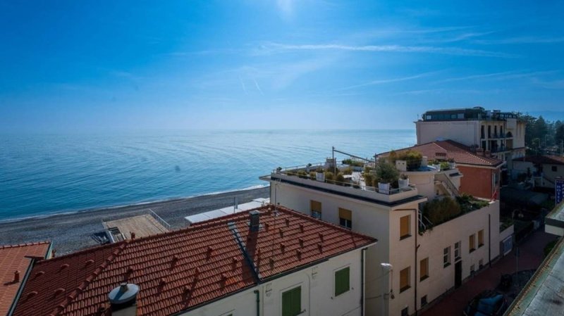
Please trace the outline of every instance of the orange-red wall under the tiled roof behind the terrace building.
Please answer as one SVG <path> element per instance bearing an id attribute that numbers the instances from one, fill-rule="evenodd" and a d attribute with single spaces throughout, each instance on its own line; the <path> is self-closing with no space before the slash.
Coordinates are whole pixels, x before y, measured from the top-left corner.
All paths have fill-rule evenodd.
<path id="1" fill-rule="evenodd" d="M 498 169 L 470 167 L 467 165 L 457 165 L 458 170 L 464 175 L 460 179 L 460 192 L 472 194 L 479 198 L 491 198 L 494 194 L 492 187 L 492 173 L 497 172 Z M 498 175 L 497 179 L 500 179 Z M 499 181 L 499 180 L 498 180 Z"/>

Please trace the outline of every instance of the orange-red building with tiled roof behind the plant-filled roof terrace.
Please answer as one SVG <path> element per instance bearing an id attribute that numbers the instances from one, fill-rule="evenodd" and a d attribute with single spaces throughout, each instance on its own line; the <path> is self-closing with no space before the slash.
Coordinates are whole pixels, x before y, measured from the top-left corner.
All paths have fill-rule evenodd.
<path id="1" fill-rule="evenodd" d="M 418 151 L 428 161 L 434 160 L 437 164 L 448 161 L 455 163 L 456 169 L 464 175 L 460 177 L 460 192 L 479 198 L 499 198 L 501 169 L 505 165 L 502 160 L 450 139 L 397 149 L 394 153 L 401 154 L 405 151 Z M 378 156 L 386 158 L 390 153 L 379 153 Z"/>

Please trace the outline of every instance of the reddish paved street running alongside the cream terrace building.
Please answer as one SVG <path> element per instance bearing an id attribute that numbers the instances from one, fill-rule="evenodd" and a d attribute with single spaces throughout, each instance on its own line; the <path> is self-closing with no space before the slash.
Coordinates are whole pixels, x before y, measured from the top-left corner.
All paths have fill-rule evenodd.
<path id="1" fill-rule="evenodd" d="M 544 259 L 544 246 L 556 236 L 544 232 L 544 227 L 534 232 L 527 240 L 519 246 L 519 270 L 537 269 Z M 420 313 L 422 316 L 460 316 L 467 303 L 478 293 L 486 289 L 494 289 L 498 286 L 502 274 L 515 273 L 515 255 L 513 251 L 479 272 L 475 277 L 462 284 L 460 288 L 449 293 L 439 303 Z M 520 284 L 525 286 L 525 284 Z"/>

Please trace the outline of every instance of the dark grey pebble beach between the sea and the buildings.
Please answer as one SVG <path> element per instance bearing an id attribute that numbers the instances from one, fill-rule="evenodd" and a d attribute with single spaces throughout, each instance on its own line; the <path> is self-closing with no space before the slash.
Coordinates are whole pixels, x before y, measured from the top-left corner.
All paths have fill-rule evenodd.
<path id="1" fill-rule="evenodd" d="M 235 197 L 238 198 L 238 203 L 246 203 L 255 198 L 267 198 L 269 192 L 270 189 L 266 186 L 8 220 L 0 222 L 0 245 L 51 241 L 57 254 L 63 255 L 97 246 L 97 242 L 91 236 L 103 230 L 102 220 L 107 217 L 133 216 L 145 213 L 150 208 L 168 222 L 171 229 L 180 229 L 186 227 L 187 223 L 184 220 L 186 216 L 233 206 Z"/>

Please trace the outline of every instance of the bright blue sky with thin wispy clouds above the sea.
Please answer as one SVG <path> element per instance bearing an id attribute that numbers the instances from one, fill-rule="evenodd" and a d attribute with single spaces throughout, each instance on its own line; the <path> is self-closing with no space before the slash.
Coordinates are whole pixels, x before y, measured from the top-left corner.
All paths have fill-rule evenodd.
<path id="1" fill-rule="evenodd" d="M 563 1 L 0 1 L 0 131 L 564 118 Z"/>

